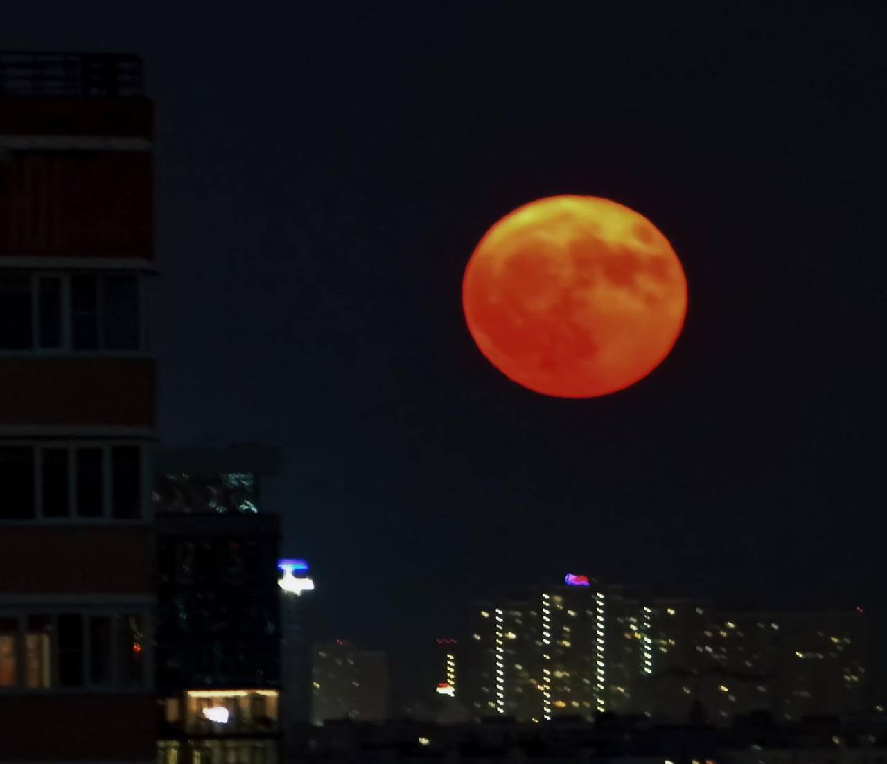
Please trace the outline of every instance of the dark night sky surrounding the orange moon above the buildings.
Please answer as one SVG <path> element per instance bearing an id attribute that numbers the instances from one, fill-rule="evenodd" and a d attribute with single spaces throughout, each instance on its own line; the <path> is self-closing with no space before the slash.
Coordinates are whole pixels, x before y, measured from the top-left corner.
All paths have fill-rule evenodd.
<path id="1" fill-rule="evenodd" d="M 14 4 L 0 47 L 144 57 L 163 437 L 285 449 L 337 632 L 399 654 L 568 569 L 887 604 L 883 4 L 208 8 Z M 461 316 L 483 232 L 565 192 L 687 272 L 674 352 L 604 399 L 514 386 Z"/>

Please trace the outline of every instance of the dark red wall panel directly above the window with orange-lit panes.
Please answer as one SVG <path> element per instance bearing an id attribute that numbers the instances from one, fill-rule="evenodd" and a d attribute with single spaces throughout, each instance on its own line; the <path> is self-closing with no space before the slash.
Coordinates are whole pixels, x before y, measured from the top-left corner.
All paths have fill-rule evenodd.
<path id="1" fill-rule="evenodd" d="M 0 526 L 0 601 L 2 592 L 153 594 L 154 569 L 149 526 Z"/>

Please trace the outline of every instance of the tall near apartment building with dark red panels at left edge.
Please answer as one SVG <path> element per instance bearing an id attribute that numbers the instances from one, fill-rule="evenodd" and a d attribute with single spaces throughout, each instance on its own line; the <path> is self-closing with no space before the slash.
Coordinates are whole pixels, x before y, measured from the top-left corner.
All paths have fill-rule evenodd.
<path id="1" fill-rule="evenodd" d="M 0 760 L 154 760 L 152 105 L 0 53 Z"/>

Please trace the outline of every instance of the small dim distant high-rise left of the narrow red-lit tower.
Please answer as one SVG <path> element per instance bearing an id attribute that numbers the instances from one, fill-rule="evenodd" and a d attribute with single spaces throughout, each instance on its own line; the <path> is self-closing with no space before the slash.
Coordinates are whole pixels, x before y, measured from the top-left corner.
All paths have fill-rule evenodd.
<path id="1" fill-rule="evenodd" d="M 388 659 L 339 639 L 317 645 L 311 672 L 311 721 L 385 721 L 389 706 Z"/>

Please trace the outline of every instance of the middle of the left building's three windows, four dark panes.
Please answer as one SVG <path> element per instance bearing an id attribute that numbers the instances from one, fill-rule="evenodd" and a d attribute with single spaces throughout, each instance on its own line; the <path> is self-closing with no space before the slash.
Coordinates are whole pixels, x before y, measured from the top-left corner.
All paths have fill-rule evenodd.
<path id="1" fill-rule="evenodd" d="M 142 517 L 144 449 L 131 444 L 0 446 L 0 521 Z"/>

